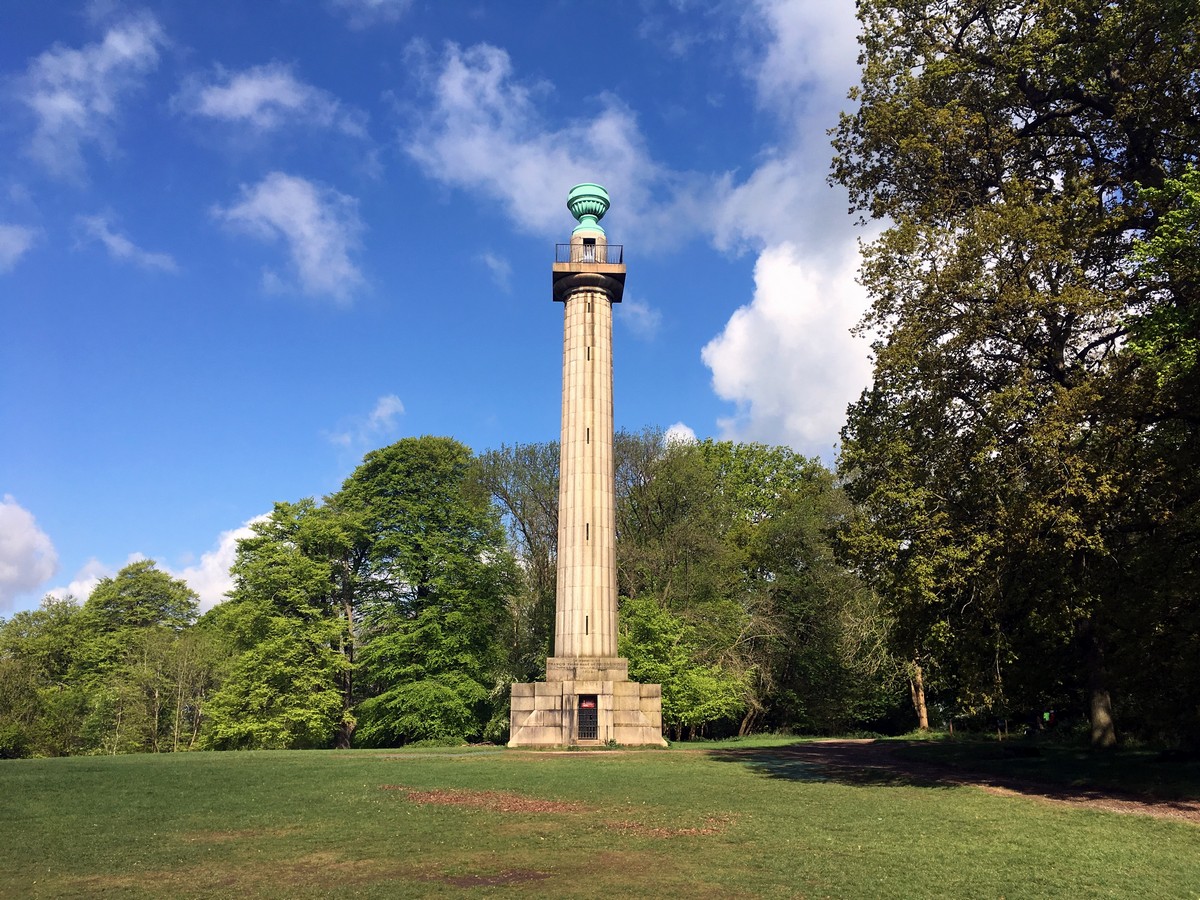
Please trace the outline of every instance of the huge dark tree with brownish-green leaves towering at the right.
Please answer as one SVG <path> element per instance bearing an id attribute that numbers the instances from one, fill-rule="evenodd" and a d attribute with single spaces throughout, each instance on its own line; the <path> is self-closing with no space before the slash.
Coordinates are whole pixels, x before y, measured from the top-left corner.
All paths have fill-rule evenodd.
<path id="1" fill-rule="evenodd" d="M 858 108 L 834 138 L 835 180 L 888 223 L 862 270 L 878 338 L 842 432 L 865 511 L 847 546 L 896 652 L 960 708 L 1084 694 L 1100 746 L 1114 685 L 1132 688 L 1114 648 L 1165 612 L 1129 572 L 1181 487 L 1194 505 L 1194 475 L 1159 474 L 1195 458 L 1194 438 L 1162 440 L 1183 406 L 1128 338 L 1194 302 L 1148 286 L 1134 247 L 1163 256 L 1154 192 L 1195 163 L 1198 14 L 864 0 Z"/>

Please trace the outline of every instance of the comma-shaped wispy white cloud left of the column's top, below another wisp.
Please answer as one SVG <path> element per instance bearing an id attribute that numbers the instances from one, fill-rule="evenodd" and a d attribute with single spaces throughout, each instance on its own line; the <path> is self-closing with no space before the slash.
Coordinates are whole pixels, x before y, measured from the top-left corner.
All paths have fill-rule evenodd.
<path id="1" fill-rule="evenodd" d="M 350 260 L 362 223 L 358 200 L 296 175 L 272 172 L 257 185 L 242 186 L 241 200 L 214 215 L 263 240 L 282 239 L 292 257 L 299 288 L 349 302 L 362 282 Z M 284 287 L 277 272 L 264 272 L 264 287 Z"/>

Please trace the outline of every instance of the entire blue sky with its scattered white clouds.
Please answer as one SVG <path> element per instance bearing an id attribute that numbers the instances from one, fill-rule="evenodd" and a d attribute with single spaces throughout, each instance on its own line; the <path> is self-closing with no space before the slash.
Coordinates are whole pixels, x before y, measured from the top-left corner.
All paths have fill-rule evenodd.
<path id="1" fill-rule="evenodd" d="M 0 616 L 140 557 L 208 607 L 246 522 L 372 448 L 557 438 L 580 181 L 629 268 L 618 427 L 832 461 L 856 34 L 850 0 L 6 0 Z"/>

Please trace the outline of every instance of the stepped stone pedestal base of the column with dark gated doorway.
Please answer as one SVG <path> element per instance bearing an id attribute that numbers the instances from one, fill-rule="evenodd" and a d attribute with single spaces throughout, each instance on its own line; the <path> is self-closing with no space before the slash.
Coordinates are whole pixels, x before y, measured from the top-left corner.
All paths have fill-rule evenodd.
<path id="1" fill-rule="evenodd" d="M 628 673 L 629 664 L 619 658 L 551 656 L 545 682 L 512 685 L 509 746 L 600 746 L 610 740 L 666 746 L 662 689 L 630 682 Z M 595 738 L 580 738 L 581 698 L 595 702 Z"/>

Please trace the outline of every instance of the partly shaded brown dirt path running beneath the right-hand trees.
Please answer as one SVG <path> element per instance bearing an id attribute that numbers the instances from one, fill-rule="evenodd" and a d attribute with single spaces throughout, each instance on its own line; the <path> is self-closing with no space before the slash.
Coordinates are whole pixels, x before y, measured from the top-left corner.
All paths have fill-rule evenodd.
<path id="1" fill-rule="evenodd" d="M 1020 778 L 908 760 L 894 745 L 875 740 L 814 740 L 791 746 L 730 751 L 731 757 L 758 762 L 766 769 L 779 769 L 788 778 L 788 763 L 812 767 L 824 776 L 852 784 L 923 784 L 932 786 L 972 786 L 989 793 L 1030 797 L 1045 803 L 1066 804 L 1108 812 L 1129 812 L 1158 818 L 1174 818 L 1200 824 L 1200 800 L 1156 800 L 1093 788 L 1075 788 L 1028 781 Z"/>

